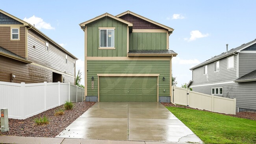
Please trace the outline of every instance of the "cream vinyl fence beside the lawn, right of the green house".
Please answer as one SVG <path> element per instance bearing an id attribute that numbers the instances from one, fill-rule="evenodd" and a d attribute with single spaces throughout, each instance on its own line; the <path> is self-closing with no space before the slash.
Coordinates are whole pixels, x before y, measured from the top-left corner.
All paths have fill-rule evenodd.
<path id="1" fill-rule="evenodd" d="M 236 114 L 236 98 L 224 98 L 173 86 L 173 102 L 218 113 Z"/>

